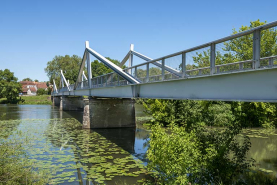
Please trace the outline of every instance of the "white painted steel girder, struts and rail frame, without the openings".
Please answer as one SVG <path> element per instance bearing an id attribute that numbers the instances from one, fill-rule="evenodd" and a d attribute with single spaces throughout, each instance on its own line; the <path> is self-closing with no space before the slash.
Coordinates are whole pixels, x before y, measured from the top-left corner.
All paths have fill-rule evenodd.
<path id="1" fill-rule="evenodd" d="M 102 75 L 96 77 L 92 80 L 97 80 L 97 84 L 90 86 L 90 88 L 85 87 L 85 85 L 80 87 L 80 72 L 78 79 L 75 84 L 75 91 L 68 92 L 66 87 L 63 87 L 59 90 L 59 93 L 55 95 L 89 95 L 89 96 L 99 96 L 99 97 L 120 97 L 120 98 L 130 98 L 130 97 L 143 97 L 143 98 L 165 98 L 165 99 L 203 99 L 203 100 L 224 100 L 224 101 L 266 101 L 266 102 L 277 102 L 277 65 L 274 64 L 277 56 L 270 56 L 266 58 L 260 58 L 260 37 L 261 30 L 268 29 L 271 27 L 277 26 L 277 21 L 262 25 L 244 32 L 240 32 L 222 39 L 215 40 L 197 47 L 193 47 L 181 52 L 173 53 L 164 57 L 157 59 L 151 59 L 146 57 L 136 51 L 132 51 L 132 46 L 130 51 L 127 53 L 125 58 L 121 63 L 125 63 L 130 56 L 133 54 L 146 60 L 147 62 L 129 67 L 124 69 L 124 71 L 119 67 L 108 61 L 105 57 L 101 56 L 91 48 L 89 48 L 88 43 L 86 43 L 86 52 L 87 55 L 92 54 L 94 57 L 103 62 L 106 66 L 111 68 L 114 73 L 120 75 L 129 83 L 121 82 L 108 82 L 108 77 L 110 74 Z M 231 39 L 235 39 L 241 36 L 248 34 L 253 34 L 253 59 L 234 62 L 222 65 L 215 65 L 215 46 L 218 43 L 222 43 Z M 197 68 L 192 70 L 186 70 L 186 53 L 202 49 L 210 46 L 210 66 L 204 68 Z M 86 53 L 85 53 L 86 54 Z M 84 56 L 85 56 L 84 54 Z M 169 66 L 165 65 L 165 59 L 174 57 L 182 54 L 182 71 L 175 69 L 170 69 Z M 84 58 L 84 57 L 83 57 Z M 260 67 L 260 61 L 268 60 L 268 64 Z M 160 62 L 162 61 L 162 62 Z M 129 60 L 129 63 L 132 60 Z M 162 80 L 158 82 L 149 83 L 149 65 L 150 63 L 161 67 L 162 69 Z M 251 67 L 245 68 L 245 63 L 251 63 Z M 82 63 L 83 64 L 83 63 Z M 147 67 L 146 77 L 141 79 L 145 83 L 140 83 L 136 80 L 131 73 L 128 74 L 125 71 L 131 69 L 135 70 L 135 77 L 137 77 L 137 69 L 140 66 Z M 220 67 L 236 65 L 233 68 L 230 68 L 229 71 L 221 71 Z M 82 69 L 82 66 L 81 66 Z M 205 70 L 210 70 L 210 73 L 207 74 Z M 228 68 L 227 68 L 228 69 Z M 169 74 L 165 74 L 165 70 L 169 71 Z M 175 70 L 175 71 L 174 71 Z M 196 71 L 196 72 L 194 72 Z M 198 71 L 198 72 L 197 72 Z M 192 73 L 194 72 L 194 73 Z M 90 73 L 89 73 L 90 74 Z M 112 74 L 112 75 L 113 75 Z M 110 75 L 110 76 L 112 76 Z M 170 76 L 171 75 L 171 76 Z M 175 76 L 174 76 L 175 75 Z M 157 75 L 158 77 L 159 75 Z M 165 76 L 169 77 L 166 78 Z M 152 76 L 151 76 L 152 77 Z M 177 79 L 174 79 L 176 78 Z M 103 82 L 103 79 L 106 79 L 106 82 Z M 179 79 L 178 79 L 179 78 Z M 100 79 L 100 80 L 99 80 Z M 160 77 L 155 78 L 154 80 L 160 80 Z M 89 83 L 91 80 L 89 78 Z M 151 80 L 152 81 L 152 80 Z M 61 83 L 67 83 L 65 78 L 61 78 Z M 83 83 L 83 82 L 82 82 Z M 85 83 L 85 81 L 84 81 Z M 128 85 L 127 85 L 128 84 Z M 67 88 L 68 88 L 68 84 Z M 122 86 L 123 85 L 123 86 Z M 113 86 L 113 87 L 110 87 Z M 87 88 L 87 89 L 86 89 Z M 70 86 L 70 90 L 71 90 Z M 128 90 L 129 89 L 129 90 Z M 130 90 L 131 89 L 131 90 Z M 123 92 L 124 91 L 124 92 Z"/>

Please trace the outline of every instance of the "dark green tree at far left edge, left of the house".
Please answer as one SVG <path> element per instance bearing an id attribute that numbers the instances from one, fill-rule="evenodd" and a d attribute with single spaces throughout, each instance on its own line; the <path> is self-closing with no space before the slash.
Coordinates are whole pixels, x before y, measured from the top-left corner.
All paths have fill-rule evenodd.
<path id="1" fill-rule="evenodd" d="M 17 102 L 22 86 L 17 82 L 14 73 L 8 69 L 0 70 L 0 96 L 7 98 L 8 102 Z"/>

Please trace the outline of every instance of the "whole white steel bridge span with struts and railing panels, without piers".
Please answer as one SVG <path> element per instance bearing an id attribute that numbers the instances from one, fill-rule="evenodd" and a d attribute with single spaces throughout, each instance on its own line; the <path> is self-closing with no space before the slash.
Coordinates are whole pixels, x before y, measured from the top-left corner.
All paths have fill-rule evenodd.
<path id="1" fill-rule="evenodd" d="M 277 49 L 264 51 L 264 35 L 276 26 L 277 21 L 157 59 L 131 45 L 119 66 L 86 41 L 75 84 L 61 71 L 60 89 L 54 81 L 52 96 L 277 102 Z M 277 36 L 272 39 L 276 43 Z M 113 73 L 92 78 L 91 57 Z M 136 57 L 145 62 L 133 65 Z"/>

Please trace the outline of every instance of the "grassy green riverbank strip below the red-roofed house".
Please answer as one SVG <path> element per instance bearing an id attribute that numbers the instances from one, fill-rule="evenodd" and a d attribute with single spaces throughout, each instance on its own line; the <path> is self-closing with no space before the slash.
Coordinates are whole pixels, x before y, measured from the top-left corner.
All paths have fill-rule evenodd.
<path id="1" fill-rule="evenodd" d="M 19 101 L 19 104 L 29 105 L 51 105 L 51 95 L 40 95 L 40 96 L 21 96 L 18 98 L 22 99 L 23 102 Z M 8 104 L 6 98 L 0 99 L 0 104 Z"/>

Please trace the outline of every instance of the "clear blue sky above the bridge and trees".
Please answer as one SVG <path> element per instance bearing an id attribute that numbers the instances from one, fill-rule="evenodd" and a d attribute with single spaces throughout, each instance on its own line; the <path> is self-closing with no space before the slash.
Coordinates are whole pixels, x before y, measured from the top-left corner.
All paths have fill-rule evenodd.
<path id="1" fill-rule="evenodd" d="M 0 69 L 47 81 L 55 55 L 82 56 L 85 41 L 121 60 L 130 44 L 151 58 L 231 34 L 260 19 L 277 20 L 277 1 L 0 0 Z"/>

